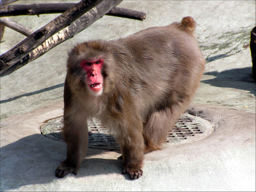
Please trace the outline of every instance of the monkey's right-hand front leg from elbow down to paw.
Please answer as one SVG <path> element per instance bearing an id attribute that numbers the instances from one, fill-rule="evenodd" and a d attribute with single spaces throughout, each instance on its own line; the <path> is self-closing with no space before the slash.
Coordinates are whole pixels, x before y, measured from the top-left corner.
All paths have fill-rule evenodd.
<path id="1" fill-rule="evenodd" d="M 136 179 L 143 174 L 143 152 L 145 146 L 142 128 L 136 126 L 125 130 L 125 133 L 119 138 L 124 166 L 122 173 L 129 173 L 131 179 Z"/>

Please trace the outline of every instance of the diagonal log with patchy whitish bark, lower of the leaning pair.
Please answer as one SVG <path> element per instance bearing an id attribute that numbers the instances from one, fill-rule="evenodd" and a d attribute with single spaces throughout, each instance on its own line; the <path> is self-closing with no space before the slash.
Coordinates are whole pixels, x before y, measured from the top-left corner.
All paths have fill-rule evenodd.
<path id="1" fill-rule="evenodd" d="M 39 45 L 37 48 L 29 52 L 19 60 L 16 60 L 16 62 L 11 67 L 2 69 L 0 71 L 0 76 L 2 77 L 8 74 L 11 74 L 12 72 L 16 71 L 20 67 L 29 63 L 30 61 L 33 61 L 37 59 L 39 56 L 45 54 L 50 49 L 59 45 L 61 42 L 72 38 L 74 35 L 86 29 L 96 20 L 101 18 L 103 15 L 105 15 L 113 7 L 116 7 L 116 5 L 118 5 L 119 3 L 121 3 L 121 0 L 102 1 L 102 3 L 98 4 L 96 7 L 86 12 L 79 19 L 75 20 L 75 22 L 73 22 L 71 25 L 59 31 L 58 33 L 54 34 L 52 37 L 46 39 L 44 43 Z M 2 65 L 1 60 L 0 60 L 0 65 Z"/>

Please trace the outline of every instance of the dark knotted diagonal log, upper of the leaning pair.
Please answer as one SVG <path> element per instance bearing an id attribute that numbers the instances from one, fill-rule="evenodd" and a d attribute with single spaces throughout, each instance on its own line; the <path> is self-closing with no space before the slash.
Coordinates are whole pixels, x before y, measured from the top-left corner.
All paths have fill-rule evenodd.
<path id="1" fill-rule="evenodd" d="M 35 31 L 14 48 L 0 56 L 0 71 L 12 66 L 17 59 L 19 60 L 31 50 L 35 49 L 38 45 L 42 44 L 50 36 L 69 26 L 74 20 L 89 11 L 95 5 L 99 4 L 101 1 L 102 0 L 82 0 L 41 29 Z"/>

